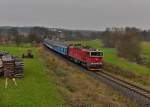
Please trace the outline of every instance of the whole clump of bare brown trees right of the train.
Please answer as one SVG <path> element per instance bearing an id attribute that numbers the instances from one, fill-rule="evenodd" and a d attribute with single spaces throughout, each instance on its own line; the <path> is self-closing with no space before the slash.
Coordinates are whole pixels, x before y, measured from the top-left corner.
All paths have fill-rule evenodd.
<path id="1" fill-rule="evenodd" d="M 137 28 L 107 28 L 102 34 L 104 47 L 116 48 L 119 57 L 140 63 L 141 31 Z"/>

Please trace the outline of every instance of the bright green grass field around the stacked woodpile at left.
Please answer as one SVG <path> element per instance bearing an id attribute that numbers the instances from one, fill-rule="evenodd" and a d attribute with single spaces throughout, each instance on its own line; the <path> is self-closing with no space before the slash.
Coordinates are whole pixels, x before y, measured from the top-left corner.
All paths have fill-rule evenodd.
<path id="1" fill-rule="evenodd" d="M 9 51 L 21 56 L 28 47 L 5 47 L 0 50 Z M 0 107 L 60 107 L 64 100 L 58 93 L 54 79 L 46 74 L 46 67 L 37 56 L 36 48 L 32 48 L 34 59 L 25 59 L 25 77 L 17 79 L 16 87 L 9 80 L 8 88 L 4 88 L 5 79 L 0 79 Z"/>

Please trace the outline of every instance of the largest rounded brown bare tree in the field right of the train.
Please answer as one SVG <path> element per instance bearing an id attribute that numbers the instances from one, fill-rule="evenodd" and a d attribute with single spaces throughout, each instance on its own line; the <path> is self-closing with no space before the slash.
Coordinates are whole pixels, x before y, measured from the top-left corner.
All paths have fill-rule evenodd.
<path id="1" fill-rule="evenodd" d="M 135 28 L 126 28 L 125 32 L 120 35 L 116 46 L 118 56 L 139 63 L 141 59 L 141 39 L 139 30 Z"/>

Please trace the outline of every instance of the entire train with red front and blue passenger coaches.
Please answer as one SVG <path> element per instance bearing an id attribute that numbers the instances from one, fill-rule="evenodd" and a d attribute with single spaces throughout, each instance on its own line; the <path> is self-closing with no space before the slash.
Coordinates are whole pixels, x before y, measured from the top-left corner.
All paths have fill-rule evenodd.
<path id="1" fill-rule="evenodd" d="M 88 70 L 100 70 L 103 65 L 103 52 L 79 44 L 66 45 L 50 39 L 43 41 L 44 46 L 65 58 L 81 64 Z"/>

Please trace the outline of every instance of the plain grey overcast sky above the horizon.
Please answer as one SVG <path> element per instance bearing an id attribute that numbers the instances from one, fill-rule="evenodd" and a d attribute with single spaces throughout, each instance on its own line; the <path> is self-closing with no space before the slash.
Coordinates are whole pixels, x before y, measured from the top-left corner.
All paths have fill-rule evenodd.
<path id="1" fill-rule="evenodd" d="M 150 28 L 150 0 L 0 0 L 0 26 Z"/>

